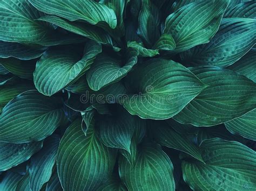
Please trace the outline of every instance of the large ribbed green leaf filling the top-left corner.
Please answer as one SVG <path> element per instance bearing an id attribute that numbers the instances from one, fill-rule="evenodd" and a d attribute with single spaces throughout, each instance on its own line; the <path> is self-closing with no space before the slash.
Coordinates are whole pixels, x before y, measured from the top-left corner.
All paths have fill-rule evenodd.
<path id="1" fill-rule="evenodd" d="M 43 13 L 34 8 L 29 0 L 2 0 L 0 5 L 0 40 L 45 46 L 74 43 L 70 34 L 63 34 L 51 25 L 37 22 Z M 74 41 L 75 40 L 75 41 Z"/>

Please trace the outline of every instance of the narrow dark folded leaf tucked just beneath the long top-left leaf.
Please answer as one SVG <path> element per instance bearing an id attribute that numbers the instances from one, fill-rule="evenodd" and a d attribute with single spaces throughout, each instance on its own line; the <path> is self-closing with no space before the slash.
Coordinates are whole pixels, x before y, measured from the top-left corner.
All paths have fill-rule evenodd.
<path id="1" fill-rule="evenodd" d="M 97 26 L 92 26 L 82 22 L 70 22 L 69 20 L 54 15 L 46 15 L 38 20 L 55 24 L 67 31 L 95 40 L 98 43 L 112 45 L 112 39 L 109 34 Z"/>

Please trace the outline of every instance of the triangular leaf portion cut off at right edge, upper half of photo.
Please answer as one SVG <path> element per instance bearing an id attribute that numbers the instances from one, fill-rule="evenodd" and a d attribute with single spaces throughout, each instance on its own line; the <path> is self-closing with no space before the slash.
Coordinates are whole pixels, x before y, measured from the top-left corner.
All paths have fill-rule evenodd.
<path id="1" fill-rule="evenodd" d="M 251 51 L 242 56 L 240 60 L 228 66 L 227 69 L 245 75 L 248 79 L 256 83 L 256 49 L 251 49 Z"/>

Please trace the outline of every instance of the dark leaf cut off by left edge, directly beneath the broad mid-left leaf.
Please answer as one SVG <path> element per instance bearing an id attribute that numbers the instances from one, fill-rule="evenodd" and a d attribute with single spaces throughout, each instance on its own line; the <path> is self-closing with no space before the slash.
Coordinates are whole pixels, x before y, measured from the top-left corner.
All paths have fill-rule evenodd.
<path id="1" fill-rule="evenodd" d="M 13 144 L 0 142 L 0 171 L 6 171 L 29 160 L 32 154 L 39 151 L 43 142 Z"/>

